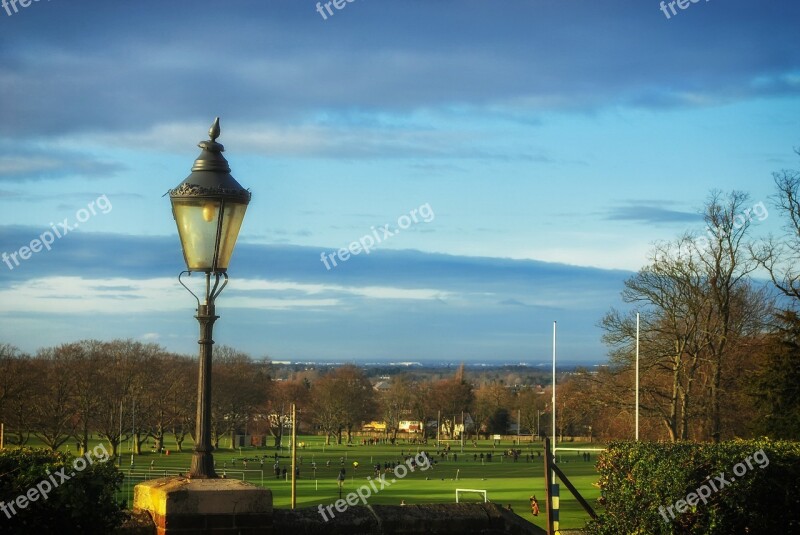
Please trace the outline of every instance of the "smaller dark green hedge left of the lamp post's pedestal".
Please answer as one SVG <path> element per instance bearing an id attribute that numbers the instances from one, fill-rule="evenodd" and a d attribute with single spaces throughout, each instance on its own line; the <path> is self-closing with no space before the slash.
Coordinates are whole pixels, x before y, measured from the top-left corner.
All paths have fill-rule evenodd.
<path id="1" fill-rule="evenodd" d="M 82 461 L 77 458 L 76 466 L 76 458 L 62 452 L 30 448 L 0 451 L 0 533 L 113 531 L 123 519 L 121 504 L 114 498 L 123 476 L 113 462 L 102 462 L 103 457 L 90 452 Z M 84 463 L 85 468 L 80 469 Z M 62 481 L 62 477 L 69 479 Z M 47 486 L 51 487 L 49 492 Z M 36 500 L 26 498 L 22 508 L 17 499 L 28 492 Z"/>

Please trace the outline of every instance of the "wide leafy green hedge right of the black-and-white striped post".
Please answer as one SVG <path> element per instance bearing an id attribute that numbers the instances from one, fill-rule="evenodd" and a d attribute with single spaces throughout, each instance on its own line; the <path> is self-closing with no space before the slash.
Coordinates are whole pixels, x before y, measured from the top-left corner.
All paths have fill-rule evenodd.
<path id="1" fill-rule="evenodd" d="M 797 442 L 615 442 L 598 472 L 600 516 L 587 524 L 590 534 L 800 533 Z M 685 503 L 690 493 L 693 504 Z"/>

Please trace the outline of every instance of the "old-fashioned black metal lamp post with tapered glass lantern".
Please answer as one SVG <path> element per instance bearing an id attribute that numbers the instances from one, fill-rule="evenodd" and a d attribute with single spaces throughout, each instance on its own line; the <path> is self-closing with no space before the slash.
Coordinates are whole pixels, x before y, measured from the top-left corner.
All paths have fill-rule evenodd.
<path id="1" fill-rule="evenodd" d="M 217 143 L 219 117 L 209 129 L 209 139 L 201 141 L 200 156 L 192 173 L 178 187 L 169 191 L 172 215 L 178 225 L 186 271 L 178 281 L 197 300 L 200 324 L 200 371 L 197 382 L 197 423 L 189 478 L 211 479 L 214 471 L 211 446 L 211 356 L 214 340 L 214 302 L 228 283 L 228 263 L 250 202 L 250 192 L 232 176 L 222 155 L 225 148 Z M 205 274 L 205 292 L 198 296 L 183 282 L 193 272 Z M 221 283 L 221 284 L 220 284 Z"/>

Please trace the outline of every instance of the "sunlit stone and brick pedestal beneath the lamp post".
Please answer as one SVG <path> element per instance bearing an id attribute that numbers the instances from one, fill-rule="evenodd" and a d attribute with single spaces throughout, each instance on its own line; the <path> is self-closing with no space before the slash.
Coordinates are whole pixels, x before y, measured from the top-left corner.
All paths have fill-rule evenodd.
<path id="1" fill-rule="evenodd" d="M 134 488 L 158 535 L 271 535 L 272 492 L 232 479 L 169 477 Z"/>

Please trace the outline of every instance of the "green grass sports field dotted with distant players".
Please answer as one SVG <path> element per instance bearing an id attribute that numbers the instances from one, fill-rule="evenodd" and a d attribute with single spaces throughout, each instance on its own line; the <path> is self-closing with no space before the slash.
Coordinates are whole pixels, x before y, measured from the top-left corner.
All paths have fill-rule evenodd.
<path id="1" fill-rule="evenodd" d="M 288 440 L 285 443 L 288 445 Z M 92 445 L 96 444 L 93 443 Z M 373 492 L 369 497 L 370 504 L 399 504 L 405 500 L 408 504 L 415 503 L 453 503 L 456 489 L 481 489 L 487 491 L 489 501 L 501 504 L 503 507 L 511 505 L 514 512 L 534 524 L 545 527 L 545 493 L 544 493 L 544 462 L 542 444 L 523 441 L 521 446 L 514 445 L 511 441 L 502 441 L 494 445 L 494 441 L 478 441 L 477 446 L 471 442 L 464 445 L 464 453 L 457 443 L 451 444 L 450 455 L 447 459 L 436 455 L 434 441 L 428 445 L 406 444 L 404 441 L 396 445 L 362 446 L 360 439 L 357 445 L 331 445 L 324 446 L 324 439 L 318 436 L 298 437 L 297 455 L 302 460 L 300 478 L 297 482 L 297 506 L 317 507 L 319 504 L 327 506 L 339 498 L 339 489 L 336 476 L 342 466 L 346 469 L 346 481 L 343 495 L 355 492 L 362 485 L 368 484 L 368 477 L 375 476 L 374 465 L 380 463 L 403 462 L 403 455 L 416 455 L 418 451 L 428 451 L 436 461 L 432 468 L 426 471 L 416 469 L 409 471 L 403 478 L 397 478 L 394 473 L 387 473 L 388 485 L 379 492 Z M 276 478 L 274 472 L 274 448 L 242 448 L 241 450 L 225 448 L 222 444 L 220 450 L 214 453 L 217 472 L 226 477 L 245 479 L 257 485 L 264 485 L 272 490 L 275 507 L 289 507 L 291 500 L 291 457 L 288 447 L 278 452 L 278 462 L 281 469 L 286 468 L 288 481 L 283 477 Z M 565 443 L 566 447 L 598 447 L 598 444 Z M 133 457 L 131 466 L 130 449 L 123 445 L 121 468 L 126 474 L 121 498 L 131 502 L 133 486 L 145 479 L 153 479 L 163 475 L 173 475 L 185 472 L 189 468 L 191 459 L 191 443 L 184 443 L 184 452 L 174 451 L 174 444 L 169 441 L 165 448 L 169 455 L 143 452 L 142 455 Z M 503 457 L 503 451 L 510 448 L 521 449 L 522 454 L 517 462 Z M 146 449 L 146 448 L 144 448 Z M 73 446 L 74 453 L 74 446 Z M 454 459 L 453 454 L 457 454 Z M 480 454 L 484 454 L 481 462 Z M 492 454 L 492 461 L 486 460 L 487 454 Z M 539 455 L 537 455 L 537 453 Z M 475 459 L 475 456 L 478 459 Z M 594 504 L 599 497 L 599 489 L 594 485 L 598 477 L 594 469 L 597 452 L 591 452 L 591 460 L 583 460 L 581 452 L 564 451 L 558 455 L 559 467 L 566 473 L 570 481 L 582 493 L 590 504 Z M 261 459 L 263 458 L 263 469 Z M 247 460 L 247 468 L 244 461 Z M 353 462 L 358 462 L 357 469 Z M 316 470 L 314 470 L 314 464 Z M 403 470 L 399 469 L 398 474 Z M 392 480 L 394 479 L 394 482 Z M 376 487 L 380 485 L 376 482 Z M 538 517 L 530 513 L 529 497 L 535 494 L 539 499 L 541 512 Z M 464 494 L 461 501 L 483 501 L 478 494 Z M 564 485 L 561 485 L 561 527 L 580 528 L 588 515 L 578 505 Z"/>

